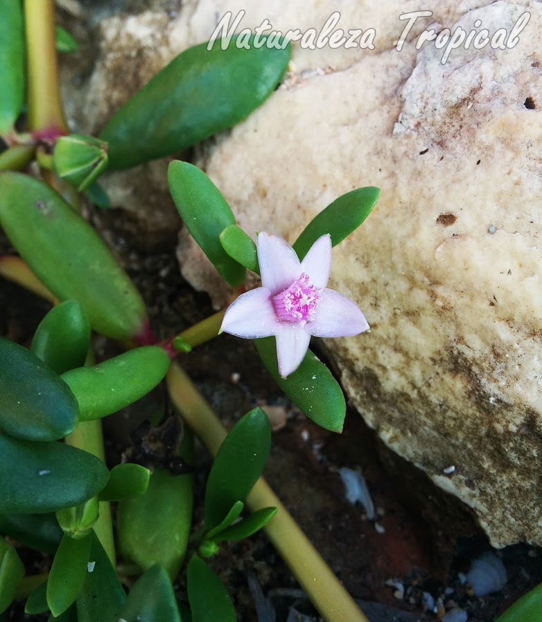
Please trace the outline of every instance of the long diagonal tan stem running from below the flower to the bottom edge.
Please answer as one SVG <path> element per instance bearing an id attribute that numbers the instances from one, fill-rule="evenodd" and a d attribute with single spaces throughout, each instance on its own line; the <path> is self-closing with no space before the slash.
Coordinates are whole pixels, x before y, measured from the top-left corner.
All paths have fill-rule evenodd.
<path id="1" fill-rule="evenodd" d="M 227 433 L 186 373 L 172 364 L 167 375 L 171 401 L 209 453 L 216 455 Z M 263 478 L 246 498 L 251 511 L 274 506 L 277 514 L 263 528 L 297 581 L 327 622 L 368 622 L 299 525 Z"/>

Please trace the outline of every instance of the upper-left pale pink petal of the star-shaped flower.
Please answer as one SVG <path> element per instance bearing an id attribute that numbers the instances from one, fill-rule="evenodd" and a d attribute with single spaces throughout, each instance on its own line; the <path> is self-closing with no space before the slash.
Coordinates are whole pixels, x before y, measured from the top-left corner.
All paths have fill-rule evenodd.
<path id="1" fill-rule="evenodd" d="M 272 296 L 290 287 L 301 274 L 301 263 L 295 250 L 277 236 L 264 232 L 258 234 L 258 262 L 261 284 L 270 290 Z"/>

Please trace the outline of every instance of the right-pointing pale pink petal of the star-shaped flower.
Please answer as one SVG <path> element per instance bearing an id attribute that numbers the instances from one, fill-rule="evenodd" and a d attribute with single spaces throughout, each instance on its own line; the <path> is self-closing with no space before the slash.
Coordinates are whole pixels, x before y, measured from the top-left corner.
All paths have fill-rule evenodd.
<path id="1" fill-rule="evenodd" d="M 335 290 L 322 292 L 314 321 L 305 327 L 315 337 L 352 337 L 369 325 L 357 304 Z"/>

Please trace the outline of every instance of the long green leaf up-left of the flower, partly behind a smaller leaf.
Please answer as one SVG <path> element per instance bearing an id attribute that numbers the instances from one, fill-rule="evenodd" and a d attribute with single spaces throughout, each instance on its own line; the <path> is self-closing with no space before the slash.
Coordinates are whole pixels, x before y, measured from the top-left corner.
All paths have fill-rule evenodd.
<path id="1" fill-rule="evenodd" d="M 175 160 L 167 169 L 169 191 L 191 236 L 231 285 L 241 285 L 245 268 L 225 252 L 220 236 L 235 224 L 232 209 L 214 183 L 194 164 Z"/>

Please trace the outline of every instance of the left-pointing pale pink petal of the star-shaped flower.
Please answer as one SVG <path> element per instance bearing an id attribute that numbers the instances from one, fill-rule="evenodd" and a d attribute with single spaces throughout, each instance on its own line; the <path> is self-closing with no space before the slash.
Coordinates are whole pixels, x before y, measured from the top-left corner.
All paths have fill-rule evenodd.
<path id="1" fill-rule="evenodd" d="M 221 332 L 229 332 L 245 339 L 270 337 L 280 330 L 274 314 L 271 293 L 257 288 L 241 294 L 226 310 Z"/>

